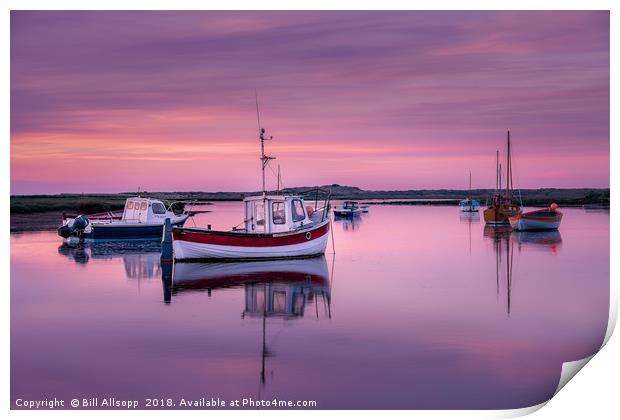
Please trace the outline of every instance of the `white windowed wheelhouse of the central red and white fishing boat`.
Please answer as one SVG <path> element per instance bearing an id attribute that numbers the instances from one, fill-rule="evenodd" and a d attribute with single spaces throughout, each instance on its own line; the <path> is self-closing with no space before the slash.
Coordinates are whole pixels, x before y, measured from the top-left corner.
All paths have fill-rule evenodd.
<path id="1" fill-rule="evenodd" d="M 312 223 L 312 208 L 299 196 L 253 196 L 244 200 L 249 233 L 290 232 Z"/>

